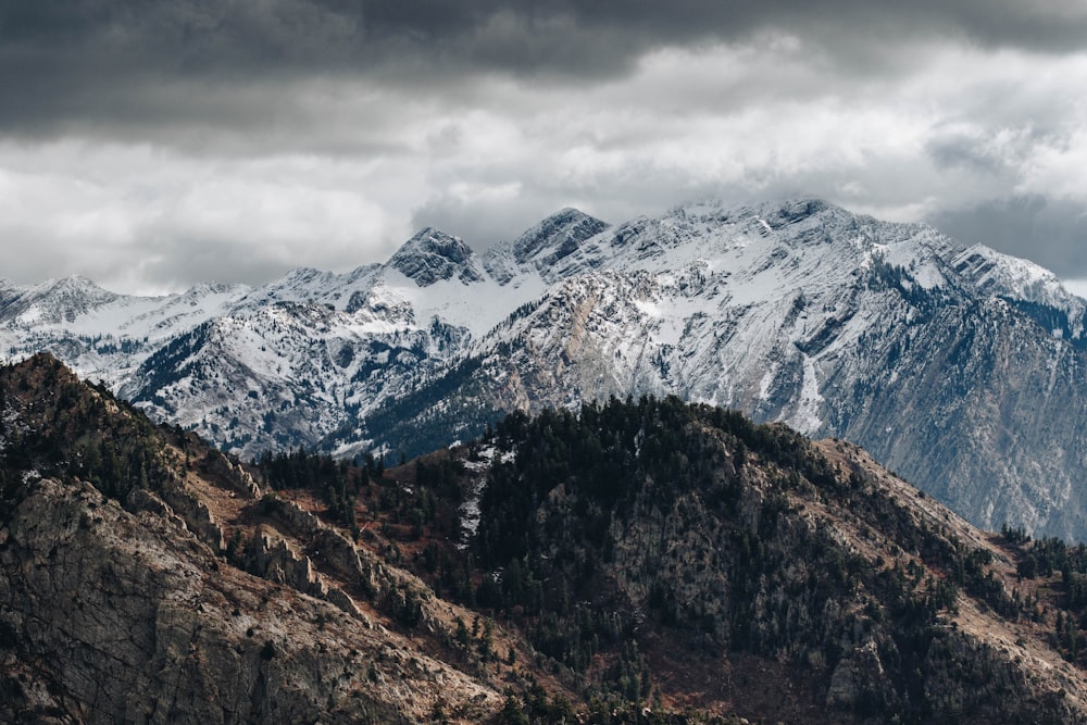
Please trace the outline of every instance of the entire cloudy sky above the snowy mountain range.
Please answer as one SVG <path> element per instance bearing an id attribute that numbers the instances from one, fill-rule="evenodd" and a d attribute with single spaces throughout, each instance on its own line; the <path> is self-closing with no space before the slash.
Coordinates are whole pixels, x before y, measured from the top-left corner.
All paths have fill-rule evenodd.
<path id="1" fill-rule="evenodd" d="M 1082 0 L 13 0 L 0 88 L 22 284 L 800 193 L 1087 278 Z"/>

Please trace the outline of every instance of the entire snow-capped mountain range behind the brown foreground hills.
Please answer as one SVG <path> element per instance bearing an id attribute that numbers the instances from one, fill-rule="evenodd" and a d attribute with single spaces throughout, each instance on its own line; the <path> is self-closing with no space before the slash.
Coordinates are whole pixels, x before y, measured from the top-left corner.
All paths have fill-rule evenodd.
<path id="1" fill-rule="evenodd" d="M 483 254 L 428 228 L 260 288 L 0 283 L 0 345 L 245 455 L 421 452 L 512 410 L 674 393 L 853 440 L 982 525 L 1084 538 L 1085 310 L 1029 262 L 800 199 L 566 209 Z"/>

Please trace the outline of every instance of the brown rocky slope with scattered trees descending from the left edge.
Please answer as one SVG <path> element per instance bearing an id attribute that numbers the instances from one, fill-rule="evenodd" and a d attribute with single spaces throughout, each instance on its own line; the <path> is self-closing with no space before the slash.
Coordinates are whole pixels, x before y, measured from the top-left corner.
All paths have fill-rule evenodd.
<path id="1" fill-rule="evenodd" d="M 0 370 L 0 718 L 420 722 L 449 708 L 478 722 L 497 708 L 491 685 L 387 629 L 355 590 L 362 572 L 372 595 L 408 575 L 371 570 L 298 510 L 295 526 L 343 557 L 322 574 L 214 450 L 45 355 Z M 242 534 L 246 554 L 228 543 Z"/>

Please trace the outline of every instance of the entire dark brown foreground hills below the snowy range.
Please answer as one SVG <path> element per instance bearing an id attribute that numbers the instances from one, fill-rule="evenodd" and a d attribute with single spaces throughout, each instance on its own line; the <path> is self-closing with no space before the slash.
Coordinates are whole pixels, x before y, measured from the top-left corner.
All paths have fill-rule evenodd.
<path id="1" fill-rule="evenodd" d="M 247 468 L 48 355 L 0 410 L 0 720 L 1087 721 L 1084 549 L 845 442 L 645 398 Z"/>

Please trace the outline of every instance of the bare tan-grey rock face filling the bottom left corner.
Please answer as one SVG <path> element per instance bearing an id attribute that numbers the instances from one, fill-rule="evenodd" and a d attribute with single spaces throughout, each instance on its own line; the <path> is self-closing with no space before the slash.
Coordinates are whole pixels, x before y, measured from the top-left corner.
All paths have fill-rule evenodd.
<path id="1" fill-rule="evenodd" d="M 5 722 L 412 722 L 497 697 L 88 484 L 29 485 L 0 570 Z"/>

